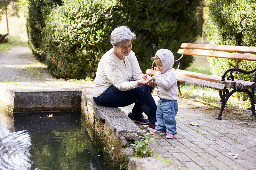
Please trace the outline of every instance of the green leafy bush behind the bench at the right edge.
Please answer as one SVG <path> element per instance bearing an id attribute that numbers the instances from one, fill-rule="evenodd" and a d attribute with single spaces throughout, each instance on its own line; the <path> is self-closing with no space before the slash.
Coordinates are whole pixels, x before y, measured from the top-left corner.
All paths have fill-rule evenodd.
<path id="1" fill-rule="evenodd" d="M 256 0 L 212 0 L 209 7 L 209 21 L 205 33 L 212 44 L 234 46 L 256 46 Z M 209 57 L 211 72 L 221 76 L 226 69 L 252 70 L 256 63 Z M 252 81 L 253 74 L 235 73 L 235 78 Z M 242 97 L 241 93 L 236 93 Z M 248 97 L 248 96 L 247 96 Z M 243 96 L 242 99 L 246 97 Z"/>

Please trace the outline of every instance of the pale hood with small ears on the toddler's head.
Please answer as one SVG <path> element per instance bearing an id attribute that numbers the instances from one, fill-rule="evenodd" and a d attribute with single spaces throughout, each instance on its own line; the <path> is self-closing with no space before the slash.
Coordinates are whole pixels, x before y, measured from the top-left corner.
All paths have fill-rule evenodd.
<path id="1" fill-rule="evenodd" d="M 170 50 L 164 48 L 159 49 L 156 51 L 156 55 L 160 58 L 163 64 L 162 73 L 165 73 L 167 70 L 172 69 L 174 63 L 174 56 Z"/>

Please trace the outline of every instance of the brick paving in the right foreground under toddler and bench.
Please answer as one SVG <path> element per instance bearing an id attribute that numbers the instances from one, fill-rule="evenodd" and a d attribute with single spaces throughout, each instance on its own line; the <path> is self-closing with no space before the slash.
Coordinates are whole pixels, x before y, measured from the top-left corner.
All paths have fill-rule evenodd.
<path id="1" fill-rule="evenodd" d="M 156 103 L 159 100 L 157 96 L 154 99 Z M 256 169 L 256 119 L 243 114 L 246 110 L 234 115 L 224 111 L 222 120 L 216 120 L 218 107 L 210 110 L 211 106 L 182 97 L 178 103 L 177 134 L 174 139 L 157 136 L 156 144 L 151 146 L 153 150 L 164 158 L 171 157 L 172 165 L 181 169 Z M 128 114 L 132 107 L 120 108 Z M 229 152 L 238 154 L 238 158 L 232 158 Z"/>

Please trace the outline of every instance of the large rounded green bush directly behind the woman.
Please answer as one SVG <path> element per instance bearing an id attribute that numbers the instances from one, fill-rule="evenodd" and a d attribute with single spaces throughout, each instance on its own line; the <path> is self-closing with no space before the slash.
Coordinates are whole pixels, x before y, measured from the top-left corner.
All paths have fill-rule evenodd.
<path id="1" fill-rule="evenodd" d="M 177 59 L 181 43 L 195 41 L 200 3 L 198 0 L 63 0 L 62 6 L 43 16 L 45 26 L 40 27 L 39 49 L 55 77 L 94 78 L 101 56 L 112 48 L 111 31 L 118 25 L 126 25 L 137 36 L 132 50 L 145 72 L 158 49 L 170 49 Z M 188 67 L 192 60 L 193 57 L 187 56 L 182 68 Z"/>

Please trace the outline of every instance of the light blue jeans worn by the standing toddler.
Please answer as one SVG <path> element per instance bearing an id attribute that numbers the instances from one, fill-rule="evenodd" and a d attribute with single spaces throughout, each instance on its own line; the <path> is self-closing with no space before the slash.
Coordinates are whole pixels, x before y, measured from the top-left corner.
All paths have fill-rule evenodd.
<path id="1" fill-rule="evenodd" d="M 162 131 L 166 129 L 167 133 L 175 135 L 176 120 L 175 116 L 178 112 L 177 100 L 160 99 L 156 109 L 156 130 Z"/>

